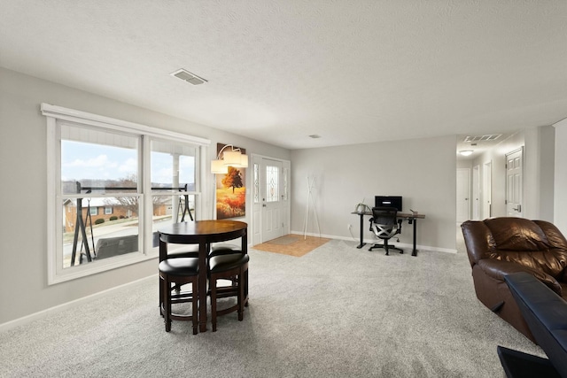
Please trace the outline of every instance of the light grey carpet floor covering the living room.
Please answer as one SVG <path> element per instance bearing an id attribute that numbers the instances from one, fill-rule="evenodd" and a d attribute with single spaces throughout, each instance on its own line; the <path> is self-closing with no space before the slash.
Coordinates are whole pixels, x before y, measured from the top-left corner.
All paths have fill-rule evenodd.
<path id="1" fill-rule="evenodd" d="M 164 329 L 158 277 L 0 334 L 1 377 L 501 377 L 496 346 L 540 348 L 478 302 L 465 253 L 384 256 L 331 240 L 250 250 L 250 305 Z"/>

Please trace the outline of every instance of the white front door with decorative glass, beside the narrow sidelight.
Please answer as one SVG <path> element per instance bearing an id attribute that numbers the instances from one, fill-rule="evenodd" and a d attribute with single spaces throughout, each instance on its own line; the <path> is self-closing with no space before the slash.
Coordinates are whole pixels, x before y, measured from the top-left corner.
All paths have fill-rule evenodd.
<path id="1" fill-rule="evenodd" d="M 261 241 L 283 236 L 283 164 L 281 161 L 262 158 L 260 164 Z"/>

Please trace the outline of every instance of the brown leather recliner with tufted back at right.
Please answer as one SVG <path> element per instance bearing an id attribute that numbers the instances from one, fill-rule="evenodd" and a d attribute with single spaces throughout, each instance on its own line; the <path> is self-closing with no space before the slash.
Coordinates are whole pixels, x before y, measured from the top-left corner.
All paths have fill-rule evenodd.
<path id="1" fill-rule="evenodd" d="M 461 228 L 478 299 L 535 343 L 504 276 L 533 274 L 567 300 L 567 240 L 544 220 L 467 220 Z"/>

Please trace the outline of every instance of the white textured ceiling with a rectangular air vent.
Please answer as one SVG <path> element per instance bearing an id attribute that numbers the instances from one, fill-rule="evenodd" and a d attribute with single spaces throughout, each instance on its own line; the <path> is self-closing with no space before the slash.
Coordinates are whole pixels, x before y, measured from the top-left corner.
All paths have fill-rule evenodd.
<path id="1" fill-rule="evenodd" d="M 567 1 L 0 0 L 0 66 L 290 149 L 502 133 L 567 117 Z"/>

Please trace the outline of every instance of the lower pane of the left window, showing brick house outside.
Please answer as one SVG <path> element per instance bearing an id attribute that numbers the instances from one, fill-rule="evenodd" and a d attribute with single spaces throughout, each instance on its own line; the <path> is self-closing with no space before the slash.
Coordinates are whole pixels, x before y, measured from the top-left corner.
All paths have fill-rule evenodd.
<path id="1" fill-rule="evenodd" d="M 63 267 L 138 251 L 139 198 L 65 198 Z M 109 204 L 112 204 L 113 220 L 110 220 L 111 215 L 92 211 Z"/>

